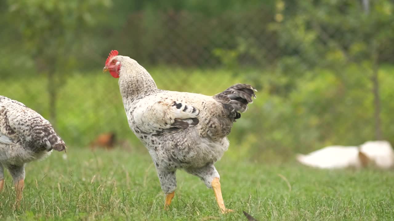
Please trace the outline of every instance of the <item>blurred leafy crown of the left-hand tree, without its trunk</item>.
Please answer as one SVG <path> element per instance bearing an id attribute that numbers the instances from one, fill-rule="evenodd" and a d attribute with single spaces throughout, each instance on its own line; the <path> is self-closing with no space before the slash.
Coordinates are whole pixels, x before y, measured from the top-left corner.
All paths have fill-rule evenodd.
<path id="1" fill-rule="evenodd" d="M 94 26 L 112 5 L 110 0 L 9 0 L 7 3 L 3 18 L 12 25 L 5 26 L 11 34 L 3 40 L 12 47 L 6 49 L 28 56 L 31 59 L 28 68 L 34 64 L 40 72 L 67 72 L 80 67 L 76 61 L 78 55 L 89 55 L 87 51 L 91 48 L 85 44 L 99 40 L 94 35 Z"/>

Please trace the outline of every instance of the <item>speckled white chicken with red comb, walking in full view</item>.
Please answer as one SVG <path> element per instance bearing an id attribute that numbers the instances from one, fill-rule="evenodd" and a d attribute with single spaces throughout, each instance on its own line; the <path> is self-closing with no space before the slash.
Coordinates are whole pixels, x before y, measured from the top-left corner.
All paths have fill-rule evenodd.
<path id="1" fill-rule="evenodd" d="M 117 51 L 111 51 L 105 71 L 119 77 L 128 124 L 156 166 L 165 208 L 177 187 L 175 173 L 184 169 L 213 188 L 222 213 L 232 211 L 223 203 L 214 163 L 229 147 L 233 122 L 256 98 L 255 88 L 236 84 L 215 96 L 160 90 L 145 68 Z"/>

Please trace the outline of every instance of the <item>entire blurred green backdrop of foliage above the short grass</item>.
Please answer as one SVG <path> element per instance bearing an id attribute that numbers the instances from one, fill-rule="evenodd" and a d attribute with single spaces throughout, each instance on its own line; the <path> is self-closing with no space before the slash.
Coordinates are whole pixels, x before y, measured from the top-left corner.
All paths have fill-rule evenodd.
<path id="1" fill-rule="evenodd" d="M 140 145 L 116 81 L 101 73 L 116 49 L 163 89 L 255 85 L 258 99 L 230 134 L 234 157 L 373 140 L 376 94 L 383 138 L 394 142 L 394 3 L 368 2 L 0 0 L 0 94 L 55 111 L 71 145 L 111 130 Z"/>

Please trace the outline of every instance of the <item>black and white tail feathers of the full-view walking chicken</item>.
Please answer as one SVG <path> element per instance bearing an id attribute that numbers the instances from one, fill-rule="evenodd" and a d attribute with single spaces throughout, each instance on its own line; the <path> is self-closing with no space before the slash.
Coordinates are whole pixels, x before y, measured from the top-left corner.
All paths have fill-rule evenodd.
<path id="1" fill-rule="evenodd" d="M 226 114 L 235 121 L 241 117 L 240 113 L 247 111 L 247 105 L 253 103 L 253 98 L 256 98 L 255 91 L 257 90 L 251 85 L 235 84 L 216 94 L 214 99 L 223 104 Z"/>

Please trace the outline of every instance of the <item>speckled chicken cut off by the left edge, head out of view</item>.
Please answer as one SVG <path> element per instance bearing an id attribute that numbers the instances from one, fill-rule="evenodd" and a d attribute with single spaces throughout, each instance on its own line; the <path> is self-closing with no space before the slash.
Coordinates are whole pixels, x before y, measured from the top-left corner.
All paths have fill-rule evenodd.
<path id="1" fill-rule="evenodd" d="M 0 191 L 6 167 L 14 180 L 16 206 L 22 199 L 25 164 L 49 156 L 52 149 L 65 148 L 45 118 L 18 101 L 0 96 Z"/>

